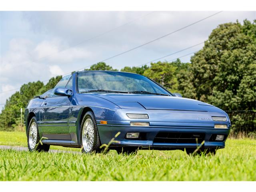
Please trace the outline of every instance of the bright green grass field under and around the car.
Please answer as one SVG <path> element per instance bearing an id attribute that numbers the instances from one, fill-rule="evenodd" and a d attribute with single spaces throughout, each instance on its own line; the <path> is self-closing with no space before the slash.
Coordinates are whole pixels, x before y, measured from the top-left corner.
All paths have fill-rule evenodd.
<path id="1" fill-rule="evenodd" d="M 0 132 L 0 145 L 26 146 L 25 133 Z M 130 156 L 114 150 L 92 155 L 0 150 L 4 181 L 255 181 L 255 170 L 256 140 L 250 139 L 229 139 L 216 156 L 188 156 L 179 150 L 141 150 Z"/>

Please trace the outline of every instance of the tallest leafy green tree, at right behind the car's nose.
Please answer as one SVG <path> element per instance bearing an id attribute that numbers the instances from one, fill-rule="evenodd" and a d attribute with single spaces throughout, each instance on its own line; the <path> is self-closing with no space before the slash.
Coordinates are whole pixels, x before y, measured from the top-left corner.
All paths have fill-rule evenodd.
<path id="1" fill-rule="evenodd" d="M 192 56 L 187 85 L 180 88 L 186 95 L 224 110 L 255 109 L 255 37 L 255 21 L 219 25 L 202 50 Z"/>

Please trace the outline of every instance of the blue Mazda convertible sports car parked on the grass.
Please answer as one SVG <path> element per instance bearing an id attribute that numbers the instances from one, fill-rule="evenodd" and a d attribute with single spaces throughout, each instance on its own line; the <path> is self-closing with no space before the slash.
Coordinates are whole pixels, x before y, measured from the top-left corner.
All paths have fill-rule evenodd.
<path id="1" fill-rule="evenodd" d="M 138 149 L 215 154 L 231 128 L 228 114 L 213 105 L 182 98 L 145 76 L 115 71 L 64 76 L 28 102 L 25 124 L 30 151 L 58 145 L 91 153 L 110 144 L 118 154 Z M 117 133 L 118 142 L 110 142 Z"/>

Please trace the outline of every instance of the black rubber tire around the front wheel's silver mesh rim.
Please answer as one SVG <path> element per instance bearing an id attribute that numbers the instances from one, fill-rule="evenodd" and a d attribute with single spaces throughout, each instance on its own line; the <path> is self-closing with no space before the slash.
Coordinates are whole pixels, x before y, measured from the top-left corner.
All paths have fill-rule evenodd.
<path id="1" fill-rule="evenodd" d="M 93 128 L 94 128 L 94 140 L 93 140 L 92 148 L 90 151 L 86 151 L 86 149 L 84 148 L 83 139 L 82 139 L 84 123 L 86 122 L 86 120 L 88 118 L 90 118 L 90 120 L 92 120 Z M 97 127 L 95 116 L 91 111 L 86 112 L 86 114 L 84 115 L 80 128 L 81 128 L 80 129 L 80 142 L 81 142 L 82 152 L 83 153 L 92 153 L 92 152 L 100 153 L 100 152 L 102 152 L 102 150 L 104 150 L 104 148 L 100 148 L 101 144 L 100 144 L 100 136 L 98 134 L 98 127 Z"/>

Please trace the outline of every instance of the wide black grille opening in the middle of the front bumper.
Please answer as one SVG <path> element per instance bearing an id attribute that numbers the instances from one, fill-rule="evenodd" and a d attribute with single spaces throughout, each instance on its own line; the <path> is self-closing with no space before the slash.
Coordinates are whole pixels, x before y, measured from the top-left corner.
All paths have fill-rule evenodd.
<path id="1" fill-rule="evenodd" d="M 204 133 L 178 133 L 178 132 L 159 132 L 154 138 L 156 143 L 198 143 L 204 140 Z"/>

